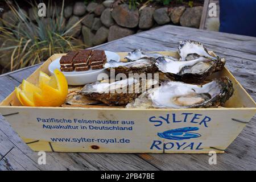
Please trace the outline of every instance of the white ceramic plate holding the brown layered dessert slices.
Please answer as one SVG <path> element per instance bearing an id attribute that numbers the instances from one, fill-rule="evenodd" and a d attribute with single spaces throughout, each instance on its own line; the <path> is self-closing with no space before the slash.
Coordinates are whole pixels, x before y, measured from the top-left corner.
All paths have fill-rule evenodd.
<path id="1" fill-rule="evenodd" d="M 107 57 L 107 61 L 109 60 L 120 61 L 120 56 L 115 52 L 105 51 L 105 54 Z M 60 70 L 60 58 L 61 57 L 52 61 L 52 63 L 49 64 L 48 69 L 51 75 L 53 75 L 53 71 L 55 69 Z M 63 72 L 64 76 L 67 78 L 68 85 L 85 85 L 88 83 L 95 82 L 98 80 L 98 76 L 100 73 L 106 73 L 109 76 L 109 72 L 106 71 L 106 69 L 96 69 L 96 70 L 89 69 L 88 71 L 82 71 L 82 72 L 76 72 L 76 71 Z M 104 75 L 102 74 L 102 76 Z"/>

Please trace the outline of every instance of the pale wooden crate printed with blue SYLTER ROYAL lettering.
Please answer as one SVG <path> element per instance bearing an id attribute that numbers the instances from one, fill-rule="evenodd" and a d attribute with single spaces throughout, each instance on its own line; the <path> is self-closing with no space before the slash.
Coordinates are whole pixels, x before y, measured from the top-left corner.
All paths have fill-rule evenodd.
<path id="1" fill-rule="evenodd" d="M 177 56 L 177 52 L 160 53 Z M 121 60 L 126 55 L 118 54 Z M 62 55 L 49 57 L 27 80 L 36 84 L 39 71 L 49 74 L 48 65 Z M 220 76 L 232 80 L 235 92 L 225 107 L 219 108 L 26 107 L 20 106 L 12 92 L 1 102 L 0 112 L 34 151 L 222 153 L 254 116 L 256 104 L 228 69 L 216 74 Z M 173 129 L 183 129 L 197 137 L 161 137 L 161 133 Z"/>

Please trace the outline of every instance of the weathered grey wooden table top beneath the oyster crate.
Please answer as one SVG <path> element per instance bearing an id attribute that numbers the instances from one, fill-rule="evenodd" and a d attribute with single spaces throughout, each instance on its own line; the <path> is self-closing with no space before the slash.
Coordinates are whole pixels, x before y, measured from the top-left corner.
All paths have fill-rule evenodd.
<path id="1" fill-rule="evenodd" d="M 176 51 L 179 40 L 196 40 L 226 58 L 226 67 L 256 99 L 256 38 L 179 26 L 162 26 L 94 47 L 114 52 Z M 0 101 L 39 65 L 0 75 Z M 3 157 L 4 156 L 4 157 Z M 2 158 L 3 157 L 3 158 Z M 256 170 L 256 117 L 251 119 L 227 148 L 209 165 L 207 154 L 93 154 L 47 153 L 38 165 L 38 153 L 19 138 L 0 115 L 0 170 Z"/>

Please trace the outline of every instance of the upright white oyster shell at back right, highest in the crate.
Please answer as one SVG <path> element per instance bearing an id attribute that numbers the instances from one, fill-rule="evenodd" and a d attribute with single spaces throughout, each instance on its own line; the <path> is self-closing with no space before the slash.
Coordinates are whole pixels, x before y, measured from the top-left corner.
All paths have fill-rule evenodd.
<path id="1" fill-rule="evenodd" d="M 209 57 L 210 59 L 217 60 L 218 57 L 212 56 L 207 51 L 207 48 L 200 42 L 192 40 L 180 41 L 178 46 L 178 53 L 180 55 L 180 61 L 189 61 L 197 59 L 200 56 Z"/>

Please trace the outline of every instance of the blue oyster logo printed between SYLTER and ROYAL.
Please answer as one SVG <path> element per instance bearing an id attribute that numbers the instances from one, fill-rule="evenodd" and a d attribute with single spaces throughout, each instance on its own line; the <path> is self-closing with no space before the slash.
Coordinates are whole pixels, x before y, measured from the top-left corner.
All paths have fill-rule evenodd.
<path id="1" fill-rule="evenodd" d="M 170 139 L 170 140 L 185 140 L 191 138 L 201 137 L 198 133 L 193 133 L 190 131 L 199 130 L 198 127 L 182 127 L 180 129 L 167 130 L 163 133 L 158 133 L 158 137 Z"/>

